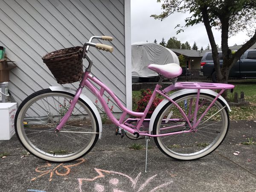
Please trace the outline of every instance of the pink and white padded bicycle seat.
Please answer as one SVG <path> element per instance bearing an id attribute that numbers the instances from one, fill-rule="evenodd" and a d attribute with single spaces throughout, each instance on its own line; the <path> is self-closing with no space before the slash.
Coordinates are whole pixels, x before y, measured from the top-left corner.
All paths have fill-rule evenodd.
<path id="1" fill-rule="evenodd" d="M 176 63 L 169 63 L 165 65 L 150 64 L 148 65 L 148 69 L 160 73 L 169 79 L 180 76 L 182 73 L 182 68 Z"/>

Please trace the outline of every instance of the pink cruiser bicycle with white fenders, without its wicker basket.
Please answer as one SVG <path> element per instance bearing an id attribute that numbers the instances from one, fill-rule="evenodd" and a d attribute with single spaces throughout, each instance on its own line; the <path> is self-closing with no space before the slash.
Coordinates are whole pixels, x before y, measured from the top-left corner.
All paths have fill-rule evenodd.
<path id="1" fill-rule="evenodd" d="M 79 159 L 93 148 L 101 138 L 102 120 L 93 102 L 81 93 L 83 87 L 98 98 L 109 119 L 117 126 L 116 134 L 132 139 L 144 136 L 146 141 L 154 137 L 157 147 L 164 154 L 178 160 L 195 160 L 218 148 L 227 135 L 230 110 L 221 93 L 233 89 L 233 85 L 176 82 L 182 73 L 179 65 L 150 64 L 148 68 L 159 73 L 160 80 L 145 111 L 130 111 L 90 73 L 93 62 L 88 56 L 89 47 L 113 51 L 110 46 L 92 43 L 95 38 L 112 40 L 107 36 L 93 36 L 84 44 L 82 57 L 89 64 L 77 90 L 49 87 L 33 93 L 20 104 L 15 116 L 15 131 L 27 151 L 43 160 L 68 162 Z M 161 90 L 164 78 L 171 79 L 172 84 Z M 94 84 L 101 88 L 96 88 Z M 175 89 L 179 90 L 170 94 Z M 120 119 L 111 113 L 103 98 L 105 91 L 122 109 Z M 157 94 L 164 99 L 151 119 L 145 119 Z M 126 119 L 128 115 L 130 118 Z"/>

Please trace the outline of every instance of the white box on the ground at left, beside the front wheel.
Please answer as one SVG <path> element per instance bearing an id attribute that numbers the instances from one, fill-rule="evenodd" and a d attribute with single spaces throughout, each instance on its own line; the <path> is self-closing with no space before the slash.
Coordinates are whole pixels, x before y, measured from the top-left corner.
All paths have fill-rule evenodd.
<path id="1" fill-rule="evenodd" d="M 10 140 L 15 134 L 16 105 L 17 103 L 0 103 L 0 140 Z"/>

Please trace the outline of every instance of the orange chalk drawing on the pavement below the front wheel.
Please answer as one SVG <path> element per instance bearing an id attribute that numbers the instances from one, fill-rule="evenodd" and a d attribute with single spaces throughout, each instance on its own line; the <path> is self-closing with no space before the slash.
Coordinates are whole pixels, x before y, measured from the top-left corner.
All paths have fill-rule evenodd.
<path id="1" fill-rule="evenodd" d="M 53 177 L 54 173 L 59 176 L 66 176 L 66 175 L 70 174 L 70 170 L 71 170 L 70 167 L 78 166 L 81 163 L 85 162 L 85 160 L 83 158 L 81 158 L 77 161 L 78 161 L 78 163 L 71 164 L 71 165 L 66 165 L 64 163 L 60 163 L 58 166 L 55 166 L 55 165 L 52 165 L 51 163 L 46 163 L 46 165 L 44 165 L 44 166 L 39 166 L 39 167 L 35 168 L 35 171 L 38 173 L 41 173 L 41 175 L 38 175 L 37 177 L 32 178 L 31 181 L 34 181 L 34 180 L 38 179 L 39 177 L 42 177 L 47 174 L 49 174 L 49 181 L 52 181 L 52 177 Z M 55 167 L 53 167 L 53 166 L 55 166 Z M 58 172 L 59 168 L 61 168 L 61 169 L 64 168 L 66 172 L 63 172 L 63 173 Z"/>

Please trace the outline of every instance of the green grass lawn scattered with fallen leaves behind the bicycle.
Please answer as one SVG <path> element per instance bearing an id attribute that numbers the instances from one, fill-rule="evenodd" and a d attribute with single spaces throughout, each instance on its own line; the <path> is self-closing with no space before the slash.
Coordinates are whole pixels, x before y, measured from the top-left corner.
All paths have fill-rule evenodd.
<path id="1" fill-rule="evenodd" d="M 244 98 L 246 101 L 250 102 L 249 106 L 233 107 L 231 106 L 230 119 L 239 120 L 247 119 L 252 120 L 256 119 L 256 82 L 241 82 L 241 83 L 232 83 L 235 85 L 233 93 L 228 93 L 228 101 L 233 101 L 234 93 L 237 92 L 240 97 L 240 92 L 244 91 Z M 140 91 L 132 92 L 132 102 L 133 102 L 133 111 L 137 109 L 137 101 L 140 99 Z"/>

